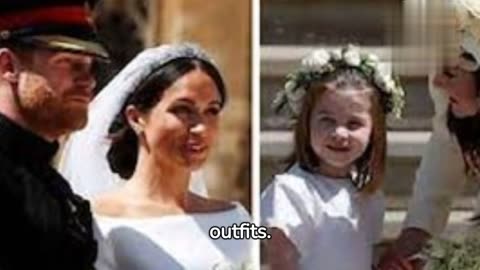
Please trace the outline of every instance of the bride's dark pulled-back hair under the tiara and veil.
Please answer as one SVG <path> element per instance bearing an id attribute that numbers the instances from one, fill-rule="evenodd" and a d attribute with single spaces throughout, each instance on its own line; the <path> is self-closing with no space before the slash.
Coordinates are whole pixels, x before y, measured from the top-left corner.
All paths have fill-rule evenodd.
<path id="1" fill-rule="evenodd" d="M 197 58 L 177 58 L 152 71 L 126 99 L 108 130 L 112 144 L 107 160 L 110 169 L 121 178 L 132 176 L 138 158 L 138 137 L 126 119 L 126 107 L 133 105 L 142 112 L 148 112 L 162 99 L 167 88 L 195 69 L 205 72 L 214 81 L 223 107 L 227 98 L 225 84 L 217 68 L 209 62 Z"/>

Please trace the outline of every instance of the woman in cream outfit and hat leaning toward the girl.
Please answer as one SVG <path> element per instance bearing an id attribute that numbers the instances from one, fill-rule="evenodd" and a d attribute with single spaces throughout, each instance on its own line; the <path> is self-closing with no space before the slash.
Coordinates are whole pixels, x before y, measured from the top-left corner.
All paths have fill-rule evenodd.
<path id="1" fill-rule="evenodd" d="M 421 269 L 416 253 L 447 226 L 455 196 L 480 177 L 480 2 L 455 0 L 460 55 L 432 76 L 433 130 L 416 173 L 404 228 L 385 252 L 380 269 Z M 480 213 L 477 195 L 475 215 Z M 401 267 L 411 259 L 411 267 Z"/>

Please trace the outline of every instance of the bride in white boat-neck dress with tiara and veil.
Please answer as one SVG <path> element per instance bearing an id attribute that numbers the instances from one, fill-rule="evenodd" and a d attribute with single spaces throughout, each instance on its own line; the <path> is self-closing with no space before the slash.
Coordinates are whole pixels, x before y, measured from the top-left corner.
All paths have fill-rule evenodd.
<path id="1" fill-rule="evenodd" d="M 209 237 L 214 226 L 248 222 L 246 210 L 188 190 L 225 101 L 218 69 L 186 44 L 140 53 L 93 101 L 87 128 L 73 139 L 87 147 L 101 138 L 108 147 L 90 157 L 95 168 L 70 162 L 70 169 L 93 169 L 99 182 L 112 181 L 112 172 L 128 179 L 93 201 L 97 269 L 240 269 L 248 262 L 248 239 Z"/>

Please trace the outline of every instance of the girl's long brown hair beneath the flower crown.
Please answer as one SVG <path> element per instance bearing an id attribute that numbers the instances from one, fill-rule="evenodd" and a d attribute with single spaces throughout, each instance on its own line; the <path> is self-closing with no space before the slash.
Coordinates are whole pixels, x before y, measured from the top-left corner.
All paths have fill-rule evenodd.
<path id="1" fill-rule="evenodd" d="M 355 68 L 336 70 L 322 80 L 314 81 L 307 86 L 310 89 L 306 91 L 300 115 L 294 126 L 294 151 L 288 158 L 289 167 L 298 162 L 303 169 L 318 172 L 318 166 L 322 161 L 310 145 L 310 117 L 316 100 L 326 90 L 332 89 L 327 86 L 332 83 L 335 85 L 335 91 L 342 91 L 349 87 L 371 93 L 370 115 L 373 130 L 365 152 L 355 161 L 357 173 L 352 174 L 352 181 L 360 192 L 371 194 L 381 187 L 385 175 L 386 117 L 382 107 L 384 101 L 375 84 Z"/>

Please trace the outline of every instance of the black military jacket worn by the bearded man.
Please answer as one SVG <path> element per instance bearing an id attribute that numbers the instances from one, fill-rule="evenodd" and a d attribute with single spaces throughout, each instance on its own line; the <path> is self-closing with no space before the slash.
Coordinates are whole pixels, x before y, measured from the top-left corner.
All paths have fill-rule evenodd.
<path id="1" fill-rule="evenodd" d="M 51 167 L 57 150 L 0 114 L 0 270 L 94 269 L 90 206 Z"/>

